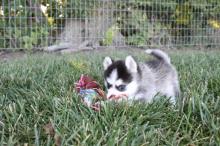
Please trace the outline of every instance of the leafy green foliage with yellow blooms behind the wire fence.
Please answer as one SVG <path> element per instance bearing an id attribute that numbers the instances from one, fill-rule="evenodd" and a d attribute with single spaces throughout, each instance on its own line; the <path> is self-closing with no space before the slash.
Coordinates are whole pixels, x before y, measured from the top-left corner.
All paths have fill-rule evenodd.
<path id="1" fill-rule="evenodd" d="M 67 21 L 89 22 L 97 18 L 99 8 L 107 12 L 106 3 L 115 10 L 116 25 L 128 45 L 148 45 L 153 35 L 161 33 L 165 40 L 172 38 L 173 44 L 196 44 L 198 36 L 209 36 L 204 29 L 219 29 L 219 0 L 5 0 L 0 1 L 0 48 L 31 49 L 52 44 Z M 167 28 L 169 31 L 164 32 Z M 112 41 L 111 29 L 105 32 L 105 45 Z M 213 44 L 203 40 L 200 37 L 201 43 Z"/>

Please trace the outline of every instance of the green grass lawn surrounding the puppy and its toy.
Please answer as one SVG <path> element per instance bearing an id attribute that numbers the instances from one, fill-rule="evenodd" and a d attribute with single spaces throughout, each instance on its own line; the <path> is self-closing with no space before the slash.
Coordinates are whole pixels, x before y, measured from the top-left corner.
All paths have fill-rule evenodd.
<path id="1" fill-rule="evenodd" d="M 151 104 L 83 106 L 74 82 L 88 74 L 103 86 L 102 60 L 136 51 L 32 55 L 0 64 L 0 145 L 53 145 L 51 122 L 62 145 L 220 145 L 220 52 L 173 52 L 183 112 L 167 100 Z M 83 69 L 69 62 L 85 62 Z"/>

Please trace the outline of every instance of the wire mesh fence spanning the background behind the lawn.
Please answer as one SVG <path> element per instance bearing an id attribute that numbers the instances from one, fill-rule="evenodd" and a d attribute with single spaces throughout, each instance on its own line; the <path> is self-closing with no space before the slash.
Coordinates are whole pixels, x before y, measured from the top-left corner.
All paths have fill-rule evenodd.
<path id="1" fill-rule="evenodd" d="M 1 0 L 1 49 L 218 48 L 219 0 Z"/>

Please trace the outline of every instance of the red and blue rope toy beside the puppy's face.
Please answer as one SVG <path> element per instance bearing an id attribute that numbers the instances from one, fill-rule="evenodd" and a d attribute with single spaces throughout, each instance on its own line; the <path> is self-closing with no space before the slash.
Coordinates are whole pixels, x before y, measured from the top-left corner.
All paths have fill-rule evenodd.
<path id="1" fill-rule="evenodd" d="M 105 100 L 106 95 L 95 80 L 89 76 L 81 75 L 80 80 L 75 83 L 75 89 L 85 105 L 96 111 L 100 110 L 99 100 Z"/>

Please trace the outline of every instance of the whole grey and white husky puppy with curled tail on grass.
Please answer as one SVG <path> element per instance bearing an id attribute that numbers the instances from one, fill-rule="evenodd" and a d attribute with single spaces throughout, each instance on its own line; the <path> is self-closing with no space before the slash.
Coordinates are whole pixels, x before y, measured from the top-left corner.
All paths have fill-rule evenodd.
<path id="1" fill-rule="evenodd" d="M 148 49 L 153 60 L 137 63 L 132 56 L 125 60 L 113 61 L 105 57 L 103 61 L 107 98 L 126 95 L 128 100 L 151 102 L 155 95 L 170 97 L 175 104 L 180 94 L 178 75 L 170 57 L 158 49 Z"/>

